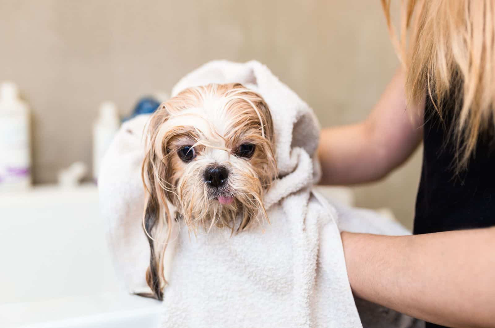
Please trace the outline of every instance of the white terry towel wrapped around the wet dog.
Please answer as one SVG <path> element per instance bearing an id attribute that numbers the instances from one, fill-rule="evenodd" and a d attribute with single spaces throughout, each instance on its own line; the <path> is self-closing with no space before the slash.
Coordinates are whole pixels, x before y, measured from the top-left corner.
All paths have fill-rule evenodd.
<path id="1" fill-rule="evenodd" d="M 270 222 L 234 234 L 215 226 L 193 234 L 183 220 L 174 221 L 164 259 L 163 327 L 421 327 L 415 319 L 354 300 L 340 230 L 408 232 L 314 190 L 319 126 L 294 91 L 257 61 L 212 61 L 181 79 L 172 96 L 189 87 L 234 82 L 261 95 L 272 116 L 279 174 L 263 199 Z M 123 124 L 99 176 L 109 246 L 132 293 L 149 291 L 141 177 L 147 122 L 143 115 Z"/>

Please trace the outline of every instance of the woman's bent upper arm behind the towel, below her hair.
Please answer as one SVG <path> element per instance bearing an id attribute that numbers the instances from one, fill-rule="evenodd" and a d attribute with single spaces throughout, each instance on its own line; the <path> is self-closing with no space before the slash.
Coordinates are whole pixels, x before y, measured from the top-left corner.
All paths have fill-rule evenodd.
<path id="1" fill-rule="evenodd" d="M 323 184 L 378 180 L 402 164 L 419 145 L 424 103 L 406 111 L 404 74 L 399 69 L 369 117 L 324 129 L 318 149 Z"/>

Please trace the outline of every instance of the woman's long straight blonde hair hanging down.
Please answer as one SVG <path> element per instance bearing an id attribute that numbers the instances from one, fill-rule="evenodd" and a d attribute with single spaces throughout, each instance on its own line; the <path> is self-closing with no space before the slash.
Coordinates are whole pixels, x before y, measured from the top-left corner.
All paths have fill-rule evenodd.
<path id="1" fill-rule="evenodd" d="M 401 0 L 400 36 L 391 0 L 381 0 L 391 38 L 406 72 L 409 104 L 427 95 L 440 117 L 453 98 L 456 166 L 474 156 L 480 134 L 495 124 L 495 0 Z"/>

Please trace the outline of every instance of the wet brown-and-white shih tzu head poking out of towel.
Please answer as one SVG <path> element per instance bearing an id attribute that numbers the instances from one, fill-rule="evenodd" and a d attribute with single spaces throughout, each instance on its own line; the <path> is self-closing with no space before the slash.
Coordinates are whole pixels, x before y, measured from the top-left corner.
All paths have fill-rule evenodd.
<path id="1" fill-rule="evenodd" d="M 148 296 L 163 298 L 173 220 L 194 232 L 268 220 L 262 200 L 277 176 L 273 134 L 263 98 L 238 83 L 186 89 L 151 116 L 142 169 Z"/>

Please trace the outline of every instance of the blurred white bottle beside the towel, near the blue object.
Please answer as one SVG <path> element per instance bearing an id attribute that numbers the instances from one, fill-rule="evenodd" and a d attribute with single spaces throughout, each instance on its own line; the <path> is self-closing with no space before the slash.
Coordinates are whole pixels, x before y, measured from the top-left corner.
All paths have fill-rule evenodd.
<path id="1" fill-rule="evenodd" d="M 99 107 L 99 117 L 93 127 L 93 178 L 98 180 L 99 165 L 113 137 L 120 127 L 117 106 L 104 102 Z"/>

